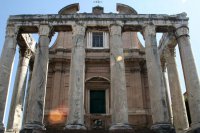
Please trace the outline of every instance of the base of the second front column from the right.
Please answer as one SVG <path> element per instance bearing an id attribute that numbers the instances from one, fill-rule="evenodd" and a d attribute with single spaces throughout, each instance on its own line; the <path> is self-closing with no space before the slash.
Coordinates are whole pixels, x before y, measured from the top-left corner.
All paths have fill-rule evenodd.
<path id="1" fill-rule="evenodd" d="M 151 126 L 154 133 L 176 133 L 174 127 L 170 123 L 159 123 Z"/>

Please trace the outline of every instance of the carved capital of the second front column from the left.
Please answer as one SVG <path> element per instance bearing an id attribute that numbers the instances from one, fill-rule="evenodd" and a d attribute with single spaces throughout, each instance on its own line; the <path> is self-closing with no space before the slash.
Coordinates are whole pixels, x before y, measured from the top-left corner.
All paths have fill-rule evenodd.
<path id="1" fill-rule="evenodd" d="M 50 36 L 52 33 L 52 27 L 49 25 L 39 25 L 39 31 L 38 34 L 40 36 Z"/>

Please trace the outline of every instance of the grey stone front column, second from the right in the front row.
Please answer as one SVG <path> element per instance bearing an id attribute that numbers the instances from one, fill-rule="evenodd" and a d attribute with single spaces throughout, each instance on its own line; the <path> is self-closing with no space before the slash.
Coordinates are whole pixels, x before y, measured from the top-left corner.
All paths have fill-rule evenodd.
<path id="1" fill-rule="evenodd" d="M 143 34 L 145 38 L 145 54 L 153 119 L 151 129 L 156 133 L 173 133 L 174 128 L 169 120 L 169 112 L 165 100 L 165 86 L 157 49 L 155 26 L 146 25 Z"/>

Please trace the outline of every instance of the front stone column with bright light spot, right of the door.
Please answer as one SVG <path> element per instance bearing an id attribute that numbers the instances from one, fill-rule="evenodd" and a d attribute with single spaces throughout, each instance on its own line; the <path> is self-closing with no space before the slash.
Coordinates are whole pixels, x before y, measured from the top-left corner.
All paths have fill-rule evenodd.
<path id="1" fill-rule="evenodd" d="M 127 89 L 122 44 L 122 27 L 110 26 L 110 69 L 112 126 L 110 130 L 131 129 L 128 125 Z"/>

